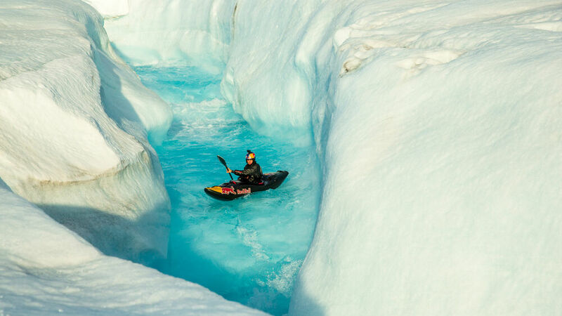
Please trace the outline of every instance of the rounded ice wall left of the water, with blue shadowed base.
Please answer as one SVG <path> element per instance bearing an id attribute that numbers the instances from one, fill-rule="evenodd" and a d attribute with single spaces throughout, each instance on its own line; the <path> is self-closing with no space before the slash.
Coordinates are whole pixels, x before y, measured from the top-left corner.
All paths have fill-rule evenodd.
<path id="1" fill-rule="evenodd" d="M 109 46 L 80 1 L 3 1 L 0 176 L 104 251 L 166 255 L 169 198 L 147 138 L 171 111 Z"/>

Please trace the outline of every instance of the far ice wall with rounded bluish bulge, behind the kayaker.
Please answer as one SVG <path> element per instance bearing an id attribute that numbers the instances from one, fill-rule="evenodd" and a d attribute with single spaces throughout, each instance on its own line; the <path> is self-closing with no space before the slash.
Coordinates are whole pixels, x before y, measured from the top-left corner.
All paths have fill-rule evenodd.
<path id="1" fill-rule="evenodd" d="M 90 2 L 106 10 L 103 1 Z M 129 13 L 108 14 L 105 28 L 134 65 L 185 63 L 224 72 L 223 96 L 253 129 L 310 145 L 314 81 L 295 63 L 303 28 L 320 3 L 132 0 Z"/>

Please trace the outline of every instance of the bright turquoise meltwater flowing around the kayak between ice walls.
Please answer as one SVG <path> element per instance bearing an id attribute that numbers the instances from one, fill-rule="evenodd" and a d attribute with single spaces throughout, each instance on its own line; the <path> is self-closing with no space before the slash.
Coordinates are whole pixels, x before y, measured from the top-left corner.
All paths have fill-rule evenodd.
<path id="1" fill-rule="evenodd" d="M 174 111 L 156 147 L 171 199 L 169 258 L 159 270 L 274 315 L 287 312 L 292 285 L 311 242 L 319 201 L 318 163 L 311 148 L 260 136 L 220 93 L 221 77 L 193 67 L 135 67 Z M 263 172 L 289 171 L 277 190 L 233 202 L 203 187 L 230 180 L 246 150 Z"/>

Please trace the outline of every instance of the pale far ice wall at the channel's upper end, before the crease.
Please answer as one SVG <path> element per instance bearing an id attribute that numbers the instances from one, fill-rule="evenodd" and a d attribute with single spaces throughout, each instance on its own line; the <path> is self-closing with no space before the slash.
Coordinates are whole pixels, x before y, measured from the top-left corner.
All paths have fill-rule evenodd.
<path id="1" fill-rule="evenodd" d="M 104 1 L 89 2 L 102 13 L 112 11 Z M 187 63 L 221 72 L 235 1 L 129 0 L 128 6 L 125 15 L 106 13 L 105 29 L 133 65 Z"/>

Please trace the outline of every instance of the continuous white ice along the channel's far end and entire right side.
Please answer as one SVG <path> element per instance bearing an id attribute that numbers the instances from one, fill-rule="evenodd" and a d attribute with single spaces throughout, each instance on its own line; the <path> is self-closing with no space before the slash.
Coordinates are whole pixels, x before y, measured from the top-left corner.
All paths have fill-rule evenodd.
<path id="1" fill-rule="evenodd" d="M 559 1 L 133 3 L 107 21 L 133 62 L 216 49 L 254 129 L 314 140 L 292 315 L 562 313 Z"/>

